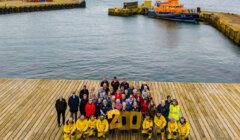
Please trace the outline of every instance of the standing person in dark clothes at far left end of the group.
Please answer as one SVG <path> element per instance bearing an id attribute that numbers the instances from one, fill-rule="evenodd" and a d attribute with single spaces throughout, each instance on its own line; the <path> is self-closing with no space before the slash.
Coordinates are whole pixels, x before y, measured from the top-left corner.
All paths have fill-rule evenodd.
<path id="1" fill-rule="evenodd" d="M 60 96 L 59 99 L 57 99 L 56 104 L 55 104 L 55 108 L 57 111 L 57 123 L 58 123 L 58 127 L 61 126 L 60 123 L 60 119 L 61 119 L 61 115 L 62 115 L 62 124 L 65 124 L 65 112 L 67 109 L 67 102 L 66 100 L 63 98 L 63 96 Z"/>

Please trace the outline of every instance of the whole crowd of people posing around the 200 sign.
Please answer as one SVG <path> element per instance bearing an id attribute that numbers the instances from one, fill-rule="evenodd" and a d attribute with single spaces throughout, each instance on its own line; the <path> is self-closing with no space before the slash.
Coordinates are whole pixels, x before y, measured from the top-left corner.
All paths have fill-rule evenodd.
<path id="1" fill-rule="evenodd" d="M 109 131 L 107 113 L 111 110 L 136 111 L 143 116 L 142 134 L 152 138 L 154 130 L 162 139 L 188 139 L 190 125 L 180 117 L 180 106 L 176 99 L 167 96 L 156 105 L 150 88 L 143 83 L 140 88 L 130 85 L 126 79 L 121 83 L 114 77 L 109 82 L 105 77 L 100 82 L 98 92 L 89 91 L 84 85 L 79 96 L 73 92 L 68 102 L 61 96 L 55 104 L 57 123 L 62 124 L 64 139 L 81 139 L 86 136 L 105 137 Z M 65 112 L 70 108 L 71 116 L 65 123 Z"/>

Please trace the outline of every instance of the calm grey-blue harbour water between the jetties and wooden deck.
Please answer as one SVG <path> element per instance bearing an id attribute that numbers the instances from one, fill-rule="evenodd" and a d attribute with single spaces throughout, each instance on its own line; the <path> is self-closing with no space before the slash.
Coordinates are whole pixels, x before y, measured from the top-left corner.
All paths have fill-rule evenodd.
<path id="1" fill-rule="evenodd" d="M 85 9 L 1 15 L 0 77 L 240 82 L 240 47 L 215 28 L 107 15 L 122 2 L 89 0 Z M 240 5 L 184 3 L 235 13 Z"/>

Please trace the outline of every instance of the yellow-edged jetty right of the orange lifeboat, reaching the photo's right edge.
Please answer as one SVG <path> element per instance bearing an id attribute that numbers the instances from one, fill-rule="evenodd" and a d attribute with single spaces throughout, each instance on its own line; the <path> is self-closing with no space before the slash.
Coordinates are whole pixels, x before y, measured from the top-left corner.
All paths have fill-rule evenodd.
<path id="1" fill-rule="evenodd" d="M 240 46 L 240 15 L 223 12 L 201 12 L 201 20 L 210 23 Z"/>

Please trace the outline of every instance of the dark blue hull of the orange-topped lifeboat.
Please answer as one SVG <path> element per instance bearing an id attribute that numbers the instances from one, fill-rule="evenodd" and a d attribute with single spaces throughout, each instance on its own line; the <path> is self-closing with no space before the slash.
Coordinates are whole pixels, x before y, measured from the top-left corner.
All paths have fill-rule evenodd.
<path id="1" fill-rule="evenodd" d="M 152 18 L 160 18 L 179 22 L 197 23 L 199 21 L 198 13 L 161 13 L 149 11 L 148 16 Z"/>

